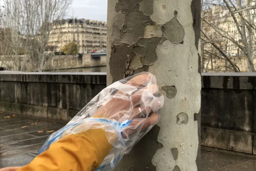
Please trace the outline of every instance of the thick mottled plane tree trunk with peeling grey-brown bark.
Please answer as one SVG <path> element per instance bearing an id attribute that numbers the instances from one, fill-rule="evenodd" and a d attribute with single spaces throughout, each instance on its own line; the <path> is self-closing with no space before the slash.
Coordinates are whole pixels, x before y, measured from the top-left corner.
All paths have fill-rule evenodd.
<path id="1" fill-rule="evenodd" d="M 165 104 L 160 122 L 116 171 L 199 171 L 201 0 L 108 0 L 108 84 L 148 71 Z"/>

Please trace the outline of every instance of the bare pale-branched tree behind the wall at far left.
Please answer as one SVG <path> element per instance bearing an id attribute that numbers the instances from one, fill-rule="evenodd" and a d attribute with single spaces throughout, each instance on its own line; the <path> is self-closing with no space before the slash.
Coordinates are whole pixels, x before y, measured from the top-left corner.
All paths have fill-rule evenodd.
<path id="1" fill-rule="evenodd" d="M 1 62 L 12 70 L 42 71 L 50 54 L 46 53 L 53 27 L 59 27 L 72 0 L 3 0 L 5 17 Z M 61 34 L 58 34 L 59 36 Z"/>

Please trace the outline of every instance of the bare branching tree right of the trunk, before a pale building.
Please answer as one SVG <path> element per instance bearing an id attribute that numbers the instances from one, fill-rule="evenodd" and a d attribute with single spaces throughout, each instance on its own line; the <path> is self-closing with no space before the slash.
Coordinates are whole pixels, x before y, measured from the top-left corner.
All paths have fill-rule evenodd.
<path id="1" fill-rule="evenodd" d="M 204 54 L 214 47 L 217 53 L 212 55 L 222 61 L 215 67 L 222 67 L 221 71 L 255 72 L 256 0 L 202 0 L 202 8 Z M 205 65 L 208 59 L 203 61 Z"/>

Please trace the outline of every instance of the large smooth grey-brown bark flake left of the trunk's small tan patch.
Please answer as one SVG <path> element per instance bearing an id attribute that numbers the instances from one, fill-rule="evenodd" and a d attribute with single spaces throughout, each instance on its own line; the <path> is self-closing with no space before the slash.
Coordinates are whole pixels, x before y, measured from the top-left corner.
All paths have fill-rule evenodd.
<path id="1" fill-rule="evenodd" d="M 143 12 L 131 11 L 125 16 L 125 24 L 121 29 L 122 41 L 133 45 L 144 37 L 144 28 L 146 25 L 155 25 L 149 16 L 145 16 Z"/>

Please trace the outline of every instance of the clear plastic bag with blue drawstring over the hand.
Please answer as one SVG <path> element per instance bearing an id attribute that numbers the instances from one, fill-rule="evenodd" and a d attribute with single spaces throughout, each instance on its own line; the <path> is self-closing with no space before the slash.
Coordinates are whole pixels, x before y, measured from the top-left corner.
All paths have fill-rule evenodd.
<path id="1" fill-rule="evenodd" d="M 96 95 L 66 126 L 48 137 L 38 154 L 62 138 L 103 129 L 113 149 L 96 171 L 111 171 L 160 119 L 164 98 L 151 73 L 116 81 Z"/>

